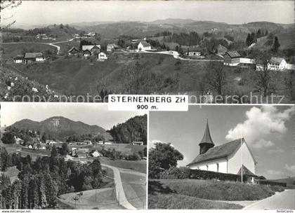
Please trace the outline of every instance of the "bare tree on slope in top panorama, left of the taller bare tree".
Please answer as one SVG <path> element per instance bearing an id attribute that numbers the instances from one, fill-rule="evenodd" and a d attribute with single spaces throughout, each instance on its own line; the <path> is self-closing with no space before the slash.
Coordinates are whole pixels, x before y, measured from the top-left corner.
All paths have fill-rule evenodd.
<path id="1" fill-rule="evenodd" d="M 223 88 L 226 84 L 226 74 L 223 69 L 223 64 L 219 62 L 211 62 L 206 70 L 206 82 L 218 93 L 218 95 L 223 95 Z"/>

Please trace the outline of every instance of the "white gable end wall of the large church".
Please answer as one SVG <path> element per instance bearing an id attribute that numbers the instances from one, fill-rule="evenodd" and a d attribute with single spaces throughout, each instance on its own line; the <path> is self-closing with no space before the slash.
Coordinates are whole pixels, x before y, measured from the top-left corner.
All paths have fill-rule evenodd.
<path id="1" fill-rule="evenodd" d="M 242 158 L 242 160 L 241 160 Z M 242 164 L 255 174 L 255 162 L 245 143 L 228 158 L 228 173 L 237 174 Z"/>

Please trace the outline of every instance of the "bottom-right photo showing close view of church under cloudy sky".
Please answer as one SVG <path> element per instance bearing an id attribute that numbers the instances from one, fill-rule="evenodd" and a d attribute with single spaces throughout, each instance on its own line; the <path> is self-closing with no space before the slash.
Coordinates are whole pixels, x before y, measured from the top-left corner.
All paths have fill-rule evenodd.
<path id="1" fill-rule="evenodd" d="M 294 105 L 150 112 L 149 209 L 294 209 Z"/>

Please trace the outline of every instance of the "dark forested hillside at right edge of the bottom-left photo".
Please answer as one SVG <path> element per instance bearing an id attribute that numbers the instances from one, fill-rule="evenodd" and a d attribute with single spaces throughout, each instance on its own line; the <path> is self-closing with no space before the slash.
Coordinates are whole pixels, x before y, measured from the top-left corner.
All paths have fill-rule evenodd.
<path id="1" fill-rule="evenodd" d="M 147 115 L 135 116 L 125 123 L 119 123 L 107 130 L 112 135 L 115 143 L 129 144 L 143 142 L 147 144 Z"/>

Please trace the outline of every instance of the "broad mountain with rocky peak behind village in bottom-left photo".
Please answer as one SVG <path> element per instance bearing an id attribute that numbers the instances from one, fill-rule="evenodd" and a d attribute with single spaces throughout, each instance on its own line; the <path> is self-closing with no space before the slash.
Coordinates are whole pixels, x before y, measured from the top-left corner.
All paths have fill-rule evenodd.
<path id="1" fill-rule="evenodd" d="M 98 135 L 105 133 L 105 130 L 98 125 L 88 125 L 81 121 L 72 121 L 61 116 L 47 118 L 41 122 L 24 119 L 15 122 L 13 125 L 11 125 L 11 127 L 18 128 L 19 130 L 37 130 L 41 132 L 41 134 L 46 132 L 46 134 L 60 140 L 63 140 L 65 137 L 72 135 Z"/>

